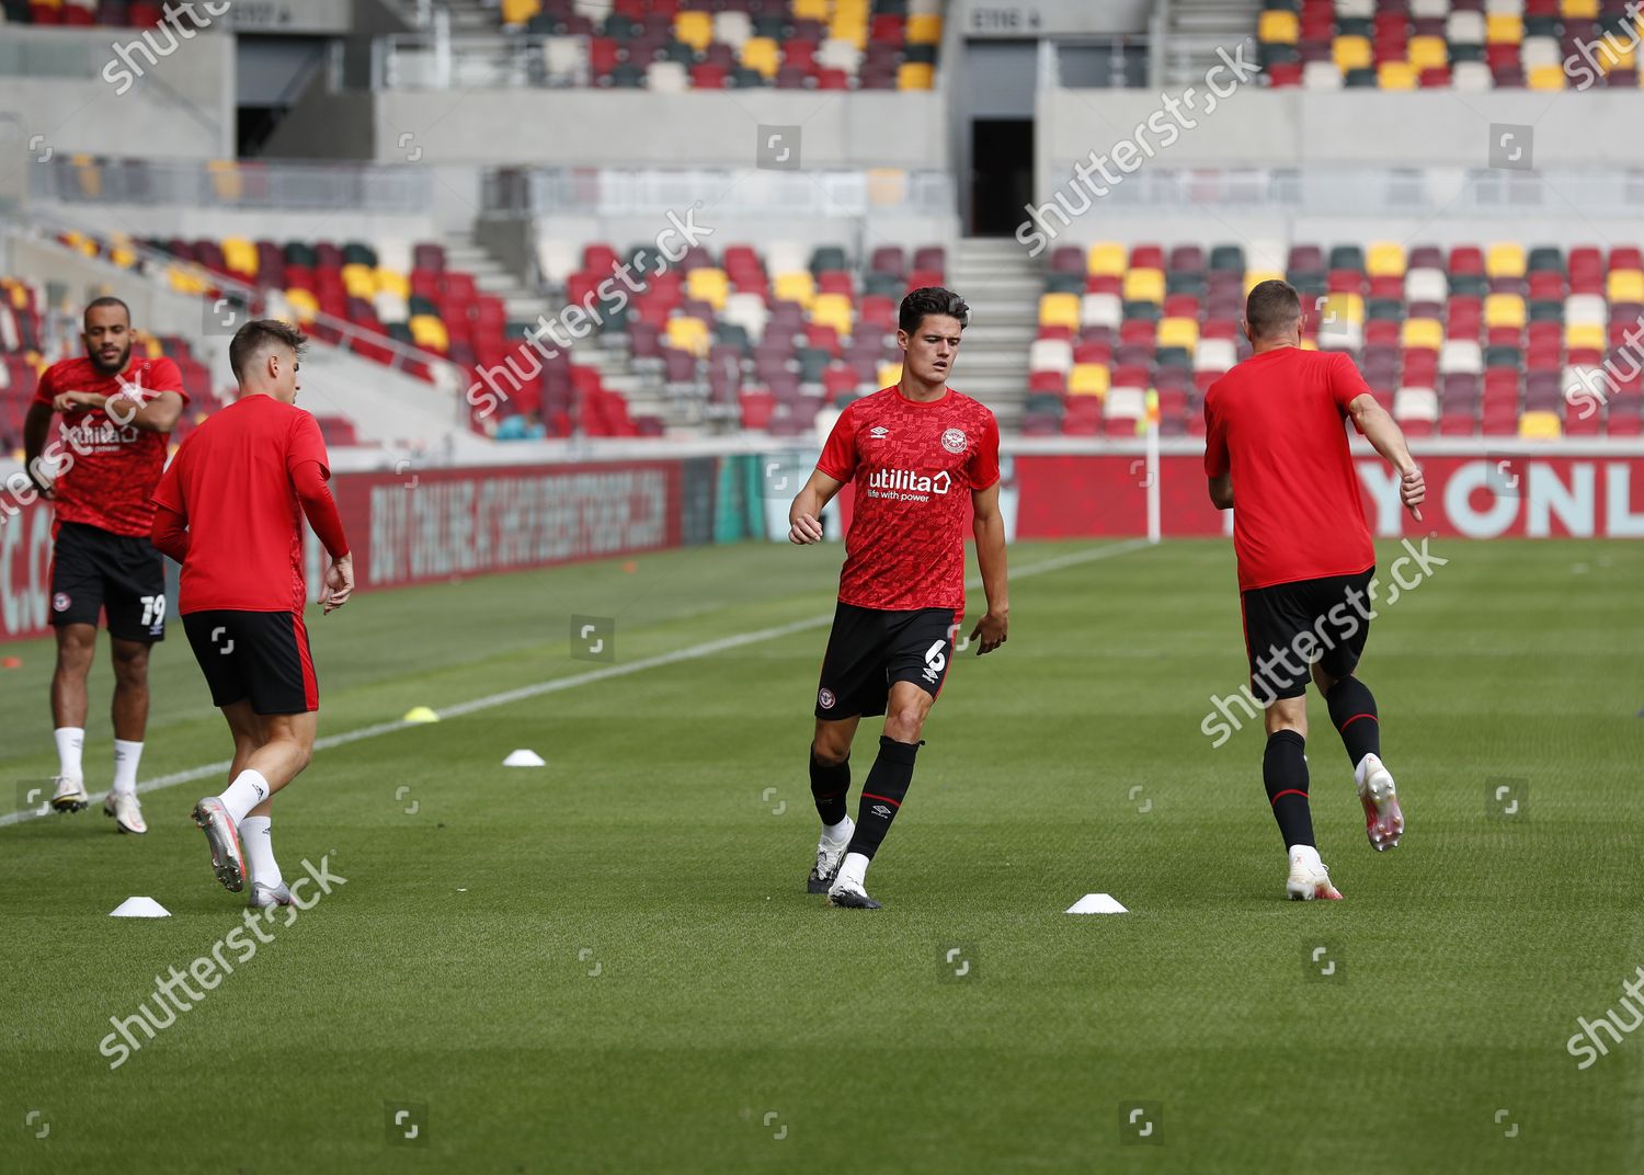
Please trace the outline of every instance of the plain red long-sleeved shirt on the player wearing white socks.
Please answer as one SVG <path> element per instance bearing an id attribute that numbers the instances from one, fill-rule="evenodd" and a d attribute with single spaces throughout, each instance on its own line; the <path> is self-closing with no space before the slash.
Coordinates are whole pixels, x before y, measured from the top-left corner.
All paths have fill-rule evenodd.
<path id="1" fill-rule="evenodd" d="M 317 468 L 304 468 L 309 462 Z M 329 505 L 324 478 L 330 467 L 319 424 L 273 396 L 235 401 L 182 442 L 155 490 L 155 505 L 187 523 L 178 600 L 182 615 L 302 611 L 299 486 L 316 475 Z M 340 523 L 316 532 L 332 555 L 347 554 Z M 161 549 L 173 554 L 171 542 Z"/>

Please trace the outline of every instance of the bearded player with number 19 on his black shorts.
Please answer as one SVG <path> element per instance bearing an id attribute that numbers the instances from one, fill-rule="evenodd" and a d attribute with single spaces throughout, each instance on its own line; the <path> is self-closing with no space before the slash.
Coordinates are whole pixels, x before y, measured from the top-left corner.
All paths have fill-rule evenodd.
<path id="1" fill-rule="evenodd" d="M 148 725 L 148 651 L 166 638 L 166 565 L 148 541 L 148 496 L 166 467 L 166 437 L 187 393 L 169 358 L 132 353 L 132 311 L 118 297 L 85 306 L 84 358 L 53 363 L 39 376 L 23 422 L 30 480 L 54 506 L 51 624 L 58 667 L 51 725 L 58 779 L 51 807 L 79 812 L 85 794 L 85 679 L 107 615 L 113 654 L 113 786 L 104 812 L 120 832 L 145 833 L 136 767 Z M 53 416 L 61 440 L 46 457 Z"/>

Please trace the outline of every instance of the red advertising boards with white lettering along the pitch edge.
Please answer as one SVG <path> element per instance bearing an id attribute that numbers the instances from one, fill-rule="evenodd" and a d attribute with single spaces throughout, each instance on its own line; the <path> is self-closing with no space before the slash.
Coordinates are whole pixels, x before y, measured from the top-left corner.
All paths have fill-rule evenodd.
<path id="1" fill-rule="evenodd" d="M 1379 537 L 1644 537 L 1644 450 L 1535 445 L 1422 450 L 1429 505 L 1412 523 L 1397 480 L 1360 457 L 1365 508 Z M 505 465 L 429 472 L 339 473 L 334 491 L 355 552 L 362 592 L 434 583 L 582 559 L 679 546 L 784 541 L 791 473 L 814 452 L 654 460 Z M 1014 539 L 1146 534 L 1148 470 L 1141 445 L 1106 454 L 1018 450 L 1003 463 L 1001 501 Z M 781 480 L 787 478 L 787 480 Z M 1161 458 L 1167 537 L 1226 534 L 1231 514 L 1205 496 L 1200 454 Z M 51 509 L 0 505 L 0 641 L 48 631 Z M 830 511 L 848 521 L 850 490 Z M 317 597 L 324 552 L 307 536 L 307 580 Z M 173 569 L 174 574 L 174 569 Z M 169 593 L 174 600 L 176 592 Z"/>

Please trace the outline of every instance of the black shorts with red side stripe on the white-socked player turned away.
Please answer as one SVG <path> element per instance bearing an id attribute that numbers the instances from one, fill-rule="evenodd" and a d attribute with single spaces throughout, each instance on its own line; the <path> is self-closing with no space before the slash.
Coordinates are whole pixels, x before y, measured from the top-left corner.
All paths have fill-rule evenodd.
<path id="1" fill-rule="evenodd" d="M 182 616 L 214 707 L 250 698 L 253 713 L 319 710 L 319 680 L 299 611 L 191 611 Z"/>

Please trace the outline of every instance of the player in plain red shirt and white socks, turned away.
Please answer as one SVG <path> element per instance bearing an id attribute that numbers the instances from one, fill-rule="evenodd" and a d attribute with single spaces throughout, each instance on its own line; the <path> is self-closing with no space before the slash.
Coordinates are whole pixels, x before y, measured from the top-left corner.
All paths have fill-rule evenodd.
<path id="1" fill-rule="evenodd" d="M 302 606 L 302 518 L 330 552 L 326 611 L 349 601 L 353 557 L 342 532 L 326 442 L 296 406 L 307 339 L 263 319 L 229 345 L 240 398 L 182 447 L 155 491 L 155 546 L 182 564 L 179 610 L 194 657 L 233 735 L 229 789 L 194 805 L 217 879 L 248 905 L 289 905 L 270 840 L 271 797 L 314 753 L 319 680 Z"/>

